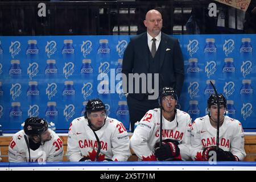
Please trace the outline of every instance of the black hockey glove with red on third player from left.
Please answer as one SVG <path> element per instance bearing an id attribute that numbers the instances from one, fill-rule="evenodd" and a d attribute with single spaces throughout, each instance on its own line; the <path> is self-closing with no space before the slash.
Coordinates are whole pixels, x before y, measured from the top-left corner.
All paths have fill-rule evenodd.
<path id="1" fill-rule="evenodd" d="M 162 146 L 159 144 L 155 148 L 155 156 L 158 160 L 170 160 L 180 155 L 180 149 L 177 146 L 179 143 L 175 142 L 162 142 Z"/>

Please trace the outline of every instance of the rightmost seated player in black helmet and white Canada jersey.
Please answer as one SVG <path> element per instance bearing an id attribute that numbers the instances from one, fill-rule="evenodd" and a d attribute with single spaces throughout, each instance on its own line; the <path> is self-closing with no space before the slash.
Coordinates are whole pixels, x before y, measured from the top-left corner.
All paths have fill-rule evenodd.
<path id="1" fill-rule="evenodd" d="M 240 161 L 245 158 L 245 141 L 242 125 L 236 119 L 225 115 L 226 99 L 218 94 L 220 103 L 219 149 L 216 150 L 217 97 L 208 99 L 208 115 L 197 118 L 191 129 L 191 156 L 193 160 L 211 160 L 215 151 L 217 161 Z"/>

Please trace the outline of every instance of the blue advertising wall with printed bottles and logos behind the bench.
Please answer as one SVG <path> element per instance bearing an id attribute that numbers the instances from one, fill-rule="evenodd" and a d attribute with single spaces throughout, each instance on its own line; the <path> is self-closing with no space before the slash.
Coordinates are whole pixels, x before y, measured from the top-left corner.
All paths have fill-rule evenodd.
<path id="1" fill-rule="evenodd" d="M 209 80 L 228 100 L 230 117 L 255 129 L 255 35 L 175 35 L 185 63 L 179 108 L 191 117 L 206 114 L 213 93 Z M 0 122 L 19 130 L 39 116 L 67 130 L 84 115 L 86 101 L 101 98 L 110 117 L 129 129 L 122 93 L 123 52 L 130 36 L 0 37 Z M 142 65 L 143 66 L 143 65 Z"/>

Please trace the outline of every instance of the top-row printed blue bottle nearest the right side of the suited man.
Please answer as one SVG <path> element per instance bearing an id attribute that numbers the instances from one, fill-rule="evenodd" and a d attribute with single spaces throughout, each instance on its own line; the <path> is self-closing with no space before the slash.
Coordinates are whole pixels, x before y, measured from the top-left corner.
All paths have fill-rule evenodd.
<path id="1" fill-rule="evenodd" d="M 208 38 L 205 40 L 206 44 L 204 47 L 205 61 L 216 61 L 217 47 L 214 42 L 215 39 Z"/>

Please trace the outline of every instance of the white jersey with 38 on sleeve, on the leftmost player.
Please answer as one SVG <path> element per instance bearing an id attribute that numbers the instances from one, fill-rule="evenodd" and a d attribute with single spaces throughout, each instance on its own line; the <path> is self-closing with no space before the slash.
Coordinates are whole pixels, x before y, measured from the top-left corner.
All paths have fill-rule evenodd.
<path id="1" fill-rule="evenodd" d="M 31 162 L 61 162 L 63 160 L 63 142 L 54 131 L 49 130 L 49 132 L 51 140 L 44 142 L 35 151 L 30 148 Z M 24 135 L 26 135 L 24 130 L 13 135 L 9 144 L 9 162 L 28 162 L 29 154 Z"/>

